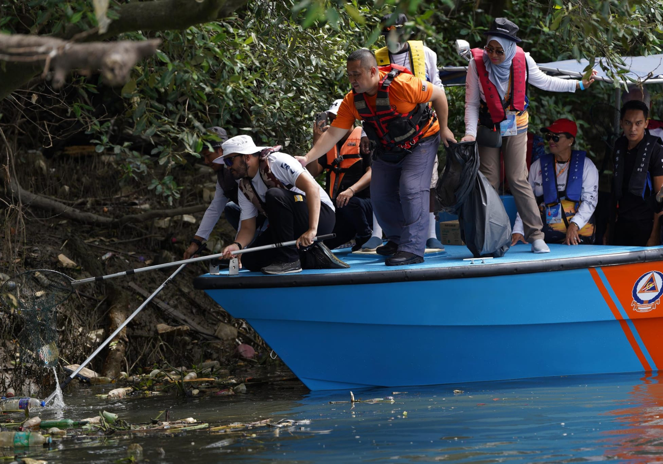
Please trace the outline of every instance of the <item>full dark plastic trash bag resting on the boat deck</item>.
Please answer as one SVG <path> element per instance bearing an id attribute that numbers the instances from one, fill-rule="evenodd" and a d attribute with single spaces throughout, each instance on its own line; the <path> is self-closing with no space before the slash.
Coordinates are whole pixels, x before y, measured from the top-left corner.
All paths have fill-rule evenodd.
<path id="1" fill-rule="evenodd" d="M 511 247 L 511 221 L 488 179 L 477 173 L 474 186 L 458 211 L 461 237 L 475 258 L 501 257 Z"/>

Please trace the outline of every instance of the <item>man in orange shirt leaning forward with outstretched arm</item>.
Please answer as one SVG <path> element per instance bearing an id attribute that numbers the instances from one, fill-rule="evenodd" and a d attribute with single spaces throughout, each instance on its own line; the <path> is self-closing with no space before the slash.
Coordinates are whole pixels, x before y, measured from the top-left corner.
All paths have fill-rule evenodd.
<path id="1" fill-rule="evenodd" d="M 447 97 L 440 87 L 412 74 L 378 70 L 375 56 L 365 48 L 347 57 L 347 75 L 352 91 L 330 129 L 306 156 L 296 158 L 306 166 L 331 150 L 355 119 L 364 121 L 375 143 L 371 203 L 389 239 L 376 251 L 389 257 L 387 266 L 423 262 L 433 164 L 440 140 L 444 145 L 455 142 L 447 127 Z"/>

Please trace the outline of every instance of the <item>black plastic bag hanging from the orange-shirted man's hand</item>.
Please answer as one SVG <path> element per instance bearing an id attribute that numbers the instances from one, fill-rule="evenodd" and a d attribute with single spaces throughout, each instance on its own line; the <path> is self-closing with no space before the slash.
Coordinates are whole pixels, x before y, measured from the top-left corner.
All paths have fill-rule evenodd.
<path id="1" fill-rule="evenodd" d="M 479 150 L 476 142 L 449 143 L 447 162 L 435 188 L 441 211 L 457 214 L 474 188 L 479 172 Z"/>

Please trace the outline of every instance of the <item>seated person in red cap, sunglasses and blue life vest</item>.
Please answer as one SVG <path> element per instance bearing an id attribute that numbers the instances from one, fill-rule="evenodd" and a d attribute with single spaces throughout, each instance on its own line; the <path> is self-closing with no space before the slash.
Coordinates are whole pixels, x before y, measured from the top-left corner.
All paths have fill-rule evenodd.
<path id="1" fill-rule="evenodd" d="M 594 210 L 598 200 L 599 172 L 584 151 L 573 150 L 577 126 L 558 119 L 541 129 L 550 153 L 532 162 L 530 186 L 534 192 L 548 243 L 594 243 Z M 526 243 L 522 219 L 516 216 L 512 243 Z"/>

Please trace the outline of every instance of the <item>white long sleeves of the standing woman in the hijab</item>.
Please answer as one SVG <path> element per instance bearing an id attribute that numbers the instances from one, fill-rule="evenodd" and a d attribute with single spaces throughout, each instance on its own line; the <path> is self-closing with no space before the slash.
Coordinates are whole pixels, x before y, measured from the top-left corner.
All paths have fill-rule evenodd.
<path id="1" fill-rule="evenodd" d="M 571 79 L 560 79 L 544 74 L 529 52 L 525 53 L 527 60 L 528 83 L 542 90 L 553 92 L 575 92 L 576 81 Z M 465 80 L 465 135 L 477 136 L 477 123 L 479 123 L 480 100 L 486 101 L 483 87 L 479 82 L 477 64 L 472 58 L 467 66 L 467 79 Z"/>

